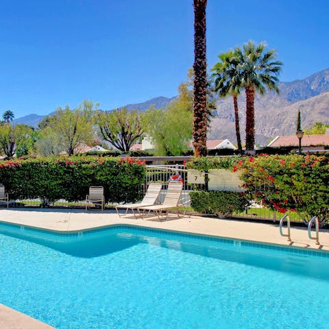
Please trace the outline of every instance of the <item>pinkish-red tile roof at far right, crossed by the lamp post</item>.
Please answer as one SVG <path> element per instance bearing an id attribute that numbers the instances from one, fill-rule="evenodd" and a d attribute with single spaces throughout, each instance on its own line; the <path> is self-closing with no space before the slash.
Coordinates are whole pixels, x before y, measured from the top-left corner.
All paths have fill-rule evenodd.
<path id="1" fill-rule="evenodd" d="M 271 147 L 296 146 L 299 140 L 297 136 L 278 136 L 273 142 L 269 143 Z M 320 146 L 329 145 L 329 134 L 304 135 L 302 138 L 302 146 Z"/>

